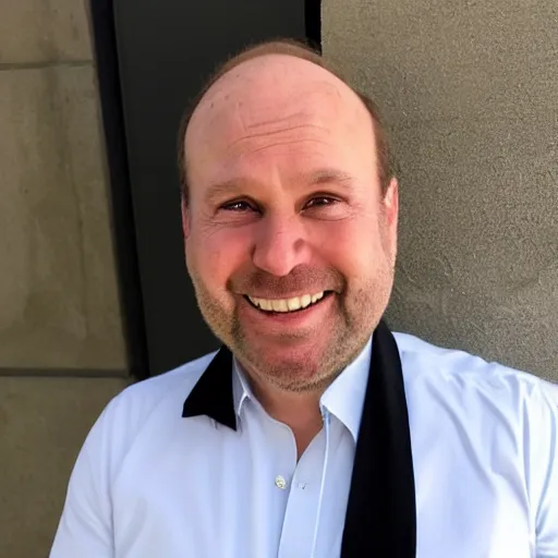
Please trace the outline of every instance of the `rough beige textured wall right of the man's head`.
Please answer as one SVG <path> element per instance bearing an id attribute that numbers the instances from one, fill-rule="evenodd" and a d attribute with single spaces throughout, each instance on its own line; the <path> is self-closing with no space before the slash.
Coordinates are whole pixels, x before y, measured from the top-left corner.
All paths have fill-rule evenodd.
<path id="1" fill-rule="evenodd" d="M 400 163 L 390 324 L 558 380 L 556 0 L 325 0 Z"/>

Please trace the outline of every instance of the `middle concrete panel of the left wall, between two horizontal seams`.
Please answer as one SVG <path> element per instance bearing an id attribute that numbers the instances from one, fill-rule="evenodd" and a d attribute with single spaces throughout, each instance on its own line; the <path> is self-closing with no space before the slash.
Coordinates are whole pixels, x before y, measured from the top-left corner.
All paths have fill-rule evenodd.
<path id="1" fill-rule="evenodd" d="M 0 72 L 0 368 L 126 369 L 92 66 Z"/>

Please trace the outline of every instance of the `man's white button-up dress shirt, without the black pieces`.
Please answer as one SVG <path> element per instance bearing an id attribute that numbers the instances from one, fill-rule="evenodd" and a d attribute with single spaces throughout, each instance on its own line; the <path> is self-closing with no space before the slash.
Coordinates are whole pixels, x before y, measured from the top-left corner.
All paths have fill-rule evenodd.
<path id="1" fill-rule="evenodd" d="M 558 409 L 543 383 L 396 333 L 417 558 L 558 558 Z M 296 462 L 234 366 L 238 429 L 182 405 L 213 355 L 131 386 L 75 464 L 51 558 L 338 558 L 371 343 Z M 383 557 L 384 558 L 384 557 Z"/>

